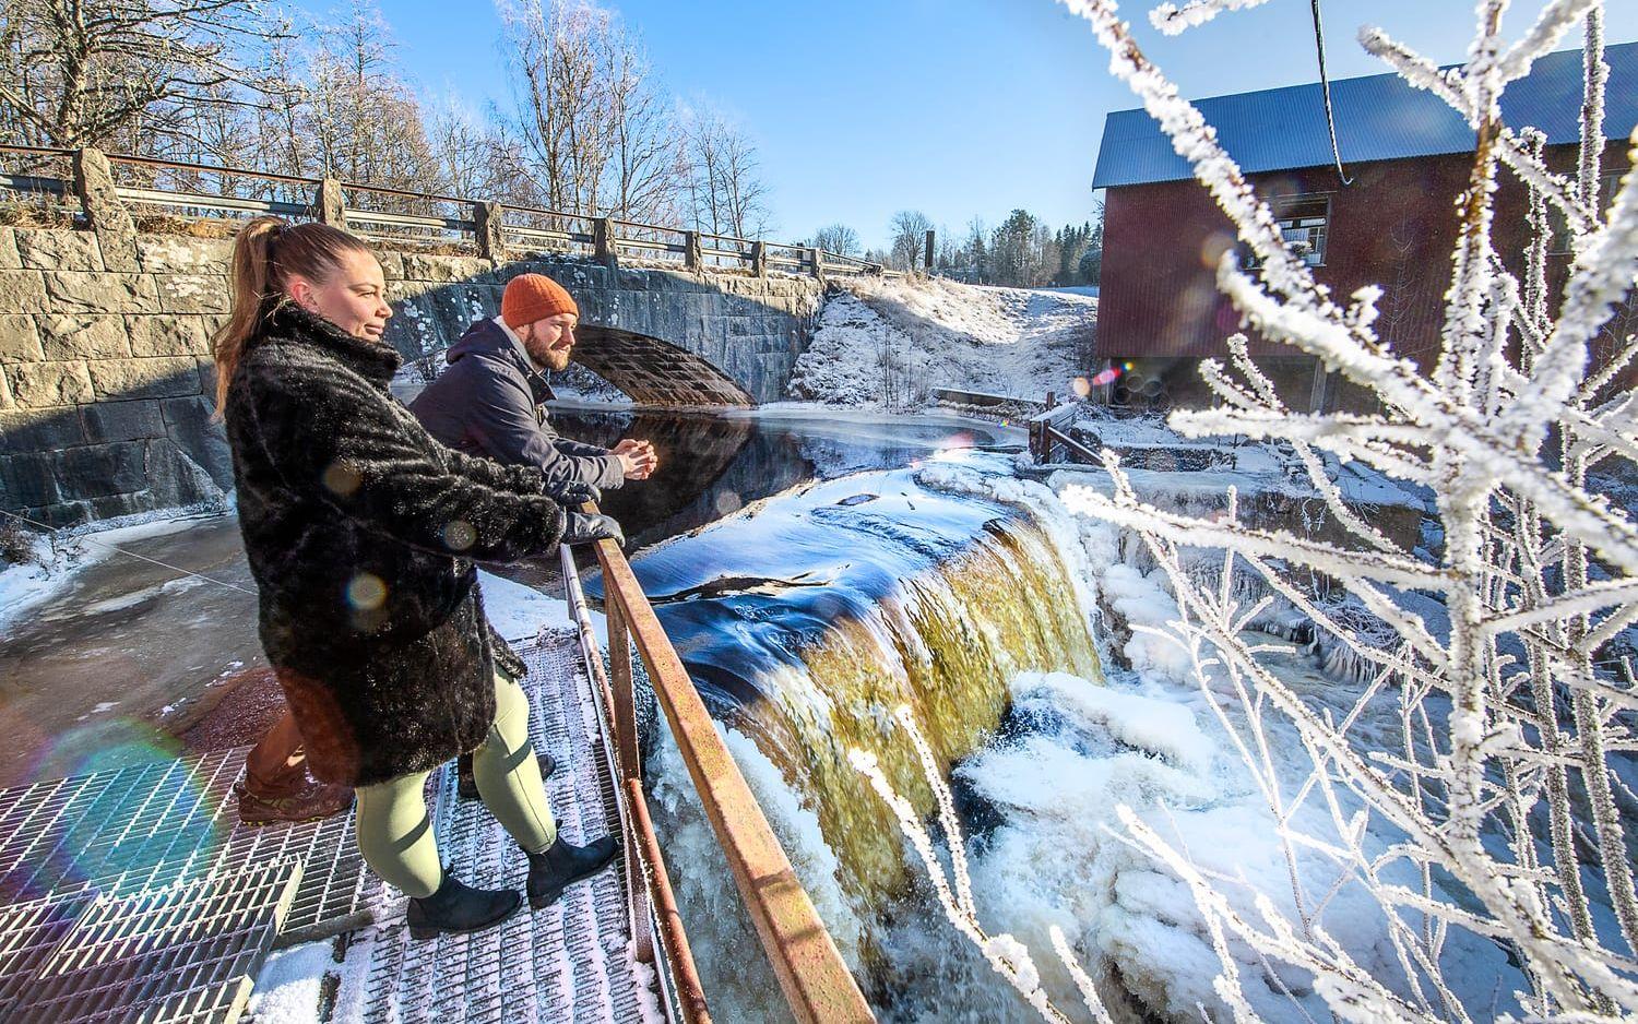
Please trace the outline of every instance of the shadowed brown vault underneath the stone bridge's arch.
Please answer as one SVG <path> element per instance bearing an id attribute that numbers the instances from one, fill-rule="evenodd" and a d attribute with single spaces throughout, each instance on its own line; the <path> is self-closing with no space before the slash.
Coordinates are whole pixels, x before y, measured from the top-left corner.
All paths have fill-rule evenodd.
<path id="1" fill-rule="evenodd" d="M 703 356 L 658 338 L 583 323 L 575 362 L 639 405 L 753 406 L 757 400 Z"/>

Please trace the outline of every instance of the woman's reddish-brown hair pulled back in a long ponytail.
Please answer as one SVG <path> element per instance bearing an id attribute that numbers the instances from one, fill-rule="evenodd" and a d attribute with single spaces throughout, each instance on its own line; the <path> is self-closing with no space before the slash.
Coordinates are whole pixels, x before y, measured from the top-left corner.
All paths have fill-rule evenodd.
<path id="1" fill-rule="evenodd" d="M 324 282 L 341 265 L 346 252 L 369 252 L 357 238 L 329 224 L 290 224 L 277 216 L 259 216 L 239 229 L 233 241 L 229 287 L 233 306 L 228 323 L 211 341 L 216 356 L 216 413 L 228 408 L 228 388 L 239 359 L 269 306 L 283 297 L 285 277 L 300 274 Z"/>

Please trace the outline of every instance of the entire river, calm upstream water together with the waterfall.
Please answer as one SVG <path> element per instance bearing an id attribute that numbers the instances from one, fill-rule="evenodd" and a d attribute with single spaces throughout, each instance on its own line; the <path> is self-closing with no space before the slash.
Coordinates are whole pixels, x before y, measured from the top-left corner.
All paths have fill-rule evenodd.
<path id="1" fill-rule="evenodd" d="M 658 449 L 660 472 L 608 492 L 603 508 L 624 524 L 644 590 L 878 1013 L 1025 1017 L 942 921 L 893 814 L 848 765 L 852 750 L 873 754 L 930 816 L 922 765 L 891 727 L 896 708 L 911 709 L 948 773 L 1038 732 L 1014 708 L 1020 677 L 1101 678 L 1083 570 L 1053 524 L 1006 493 L 1020 431 L 812 410 L 560 408 L 554 423 L 570 437 Z M 1002 483 L 950 487 L 952 467 Z M 121 547 L 226 587 L 108 555 L 16 624 L 0 644 L 0 724 L 25 739 L 3 765 L 11 780 L 164 757 L 174 745 L 152 727 L 162 713 L 262 664 L 233 516 Z M 506 575 L 555 582 L 545 565 Z M 596 596 L 595 575 L 588 585 Z M 780 1019 L 778 988 L 652 706 L 647 732 L 655 819 L 713 1009 L 721 1021 Z M 953 780 L 970 829 L 1002 822 L 981 786 Z"/>

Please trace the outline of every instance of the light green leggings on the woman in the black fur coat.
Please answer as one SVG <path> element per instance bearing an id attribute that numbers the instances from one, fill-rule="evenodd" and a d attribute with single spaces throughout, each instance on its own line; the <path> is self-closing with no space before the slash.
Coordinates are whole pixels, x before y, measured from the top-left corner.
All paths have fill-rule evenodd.
<path id="1" fill-rule="evenodd" d="M 400 775 L 359 788 L 359 852 L 364 862 L 406 896 L 431 896 L 444 865 L 426 813 L 431 772 Z M 495 673 L 495 721 L 472 755 L 472 777 L 485 806 L 523 849 L 539 854 L 557 839 L 545 801 L 541 763 L 529 742 L 529 698 L 523 686 Z"/>

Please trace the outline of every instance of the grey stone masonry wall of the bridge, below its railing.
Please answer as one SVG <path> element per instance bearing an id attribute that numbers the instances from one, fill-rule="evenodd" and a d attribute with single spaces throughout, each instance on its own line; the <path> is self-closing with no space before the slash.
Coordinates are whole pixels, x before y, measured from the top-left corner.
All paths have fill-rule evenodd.
<path id="1" fill-rule="evenodd" d="M 126 221 L 128 224 L 128 221 Z M 210 338 L 228 310 L 229 239 L 0 229 L 0 508 L 69 524 L 221 498 L 233 467 Z M 780 398 L 822 297 L 812 279 L 495 264 L 385 252 L 406 356 L 493 316 L 511 277 L 568 287 L 580 357 L 639 401 Z M 601 331 L 601 334 L 600 334 Z"/>

